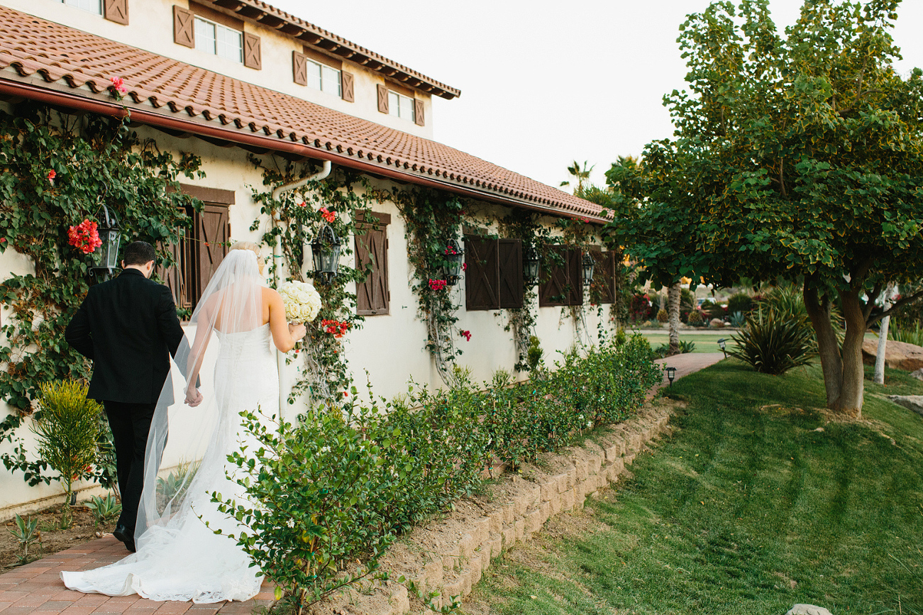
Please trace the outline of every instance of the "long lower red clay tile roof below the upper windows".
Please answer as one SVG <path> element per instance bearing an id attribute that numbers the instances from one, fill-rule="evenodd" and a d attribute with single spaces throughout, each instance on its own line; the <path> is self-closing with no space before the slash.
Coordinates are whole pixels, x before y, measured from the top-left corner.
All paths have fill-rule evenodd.
<path id="1" fill-rule="evenodd" d="M 37 91 L 32 76 L 38 73 L 51 86 L 42 86 L 42 95 L 68 90 L 79 98 L 112 103 L 110 78 L 121 77 L 128 88 L 121 104 L 133 119 L 155 126 L 166 126 L 160 118 L 180 121 L 193 134 L 297 151 L 530 209 L 600 217 L 599 206 L 587 200 L 430 139 L 6 6 L 0 6 L 0 24 L 0 85 L 30 83 L 14 89 L 17 93 L 26 88 Z"/>

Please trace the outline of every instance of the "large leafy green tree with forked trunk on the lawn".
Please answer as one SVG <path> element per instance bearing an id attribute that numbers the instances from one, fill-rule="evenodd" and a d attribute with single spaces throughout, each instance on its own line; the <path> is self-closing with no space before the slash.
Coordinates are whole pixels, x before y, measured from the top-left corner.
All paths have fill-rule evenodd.
<path id="1" fill-rule="evenodd" d="M 869 324 L 919 295 L 872 314 L 875 300 L 923 273 L 923 79 L 893 67 L 899 5 L 805 0 L 785 36 L 768 0 L 690 15 L 678 39 L 688 90 L 665 97 L 676 139 L 645 151 L 641 225 L 614 224 L 654 274 L 678 264 L 718 284 L 802 283 L 827 405 L 851 416 Z"/>

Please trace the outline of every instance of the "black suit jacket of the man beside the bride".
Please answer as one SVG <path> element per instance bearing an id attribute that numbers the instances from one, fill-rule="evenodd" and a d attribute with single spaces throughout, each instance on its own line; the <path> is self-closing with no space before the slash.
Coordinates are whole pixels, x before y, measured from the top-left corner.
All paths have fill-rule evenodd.
<path id="1" fill-rule="evenodd" d="M 65 339 L 93 361 L 87 397 L 156 404 L 183 329 L 170 289 L 141 271 L 126 269 L 114 280 L 90 287 Z"/>

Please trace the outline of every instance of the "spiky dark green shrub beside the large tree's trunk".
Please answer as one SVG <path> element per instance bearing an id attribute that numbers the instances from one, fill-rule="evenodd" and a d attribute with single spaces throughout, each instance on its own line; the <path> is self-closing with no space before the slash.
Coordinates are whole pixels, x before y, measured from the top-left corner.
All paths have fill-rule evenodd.
<path id="1" fill-rule="evenodd" d="M 764 374 L 784 374 L 791 368 L 807 365 L 813 355 L 811 332 L 799 320 L 780 318 L 773 312 L 747 320 L 743 331 L 731 336 L 737 346 L 727 354 Z"/>

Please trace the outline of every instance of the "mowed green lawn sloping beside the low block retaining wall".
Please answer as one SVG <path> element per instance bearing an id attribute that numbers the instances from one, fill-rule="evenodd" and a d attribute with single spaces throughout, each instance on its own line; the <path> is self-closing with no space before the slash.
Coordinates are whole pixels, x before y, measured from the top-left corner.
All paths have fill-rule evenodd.
<path id="1" fill-rule="evenodd" d="M 923 613 L 923 417 L 881 399 L 923 383 L 886 378 L 859 423 L 817 409 L 817 366 L 725 360 L 677 380 L 674 435 L 587 500 L 592 527 L 495 562 L 476 612 Z"/>

